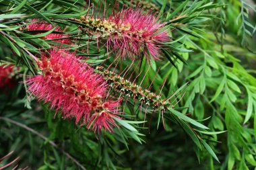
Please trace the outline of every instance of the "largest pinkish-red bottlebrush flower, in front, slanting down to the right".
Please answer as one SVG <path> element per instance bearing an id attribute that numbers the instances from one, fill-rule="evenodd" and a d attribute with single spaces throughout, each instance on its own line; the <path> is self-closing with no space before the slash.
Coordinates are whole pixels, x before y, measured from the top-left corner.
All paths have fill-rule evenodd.
<path id="1" fill-rule="evenodd" d="M 26 82 L 28 90 L 39 101 L 49 102 L 52 109 L 61 110 L 63 118 L 75 118 L 88 128 L 112 131 L 117 117 L 119 100 L 106 100 L 107 84 L 102 75 L 80 62 L 64 50 L 52 50 L 49 56 L 42 54 L 38 65 L 42 75 Z"/>

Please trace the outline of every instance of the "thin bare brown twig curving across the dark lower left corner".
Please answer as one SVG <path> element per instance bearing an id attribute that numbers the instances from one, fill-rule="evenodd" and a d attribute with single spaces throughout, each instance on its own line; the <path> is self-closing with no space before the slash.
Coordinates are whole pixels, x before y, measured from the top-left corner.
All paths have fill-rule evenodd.
<path id="1" fill-rule="evenodd" d="M 86 170 L 86 168 L 81 165 L 75 158 L 73 158 L 71 155 L 69 155 L 69 153 L 66 153 L 65 151 L 63 151 L 63 149 L 59 148 L 57 146 L 57 144 L 55 144 L 55 142 L 53 142 L 53 140 L 49 140 L 48 138 L 46 138 L 44 135 L 40 134 L 39 132 L 37 132 L 36 130 L 26 126 L 25 124 L 21 124 L 19 122 L 16 122 L 14 120 L 11 120 L 9 118 L 3 118 L 0 117 L 0 120 L 4 120 L 6 122 L 10 122 L 11 124 L 15 124 L 16 126 L 20 126 L 21 128 L 24 128 L 30 132 L 32 132 L 32 134 L 36 134 L 37 136 L 39 136 L 40 138 L 42 138 L 43 140 L 47 140 L 52 146 L 54 146 L 55 148 L 59 149 L 59 151 L 61 151 L 64 155 L 66 155 L 69 159 L 71 159 L 71 161 L 73 161 L 77 166 L 79 166 L 81 169 Z"/>

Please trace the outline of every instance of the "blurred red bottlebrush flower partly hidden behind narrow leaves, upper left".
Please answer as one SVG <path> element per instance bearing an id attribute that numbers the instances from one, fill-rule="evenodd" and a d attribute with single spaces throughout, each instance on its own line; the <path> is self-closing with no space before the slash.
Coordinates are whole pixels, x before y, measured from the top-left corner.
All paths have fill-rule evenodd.
<path id="1" fill-rule="evenodd" d="M 31 22 L 36 22 L 36 21 L 38 21 L 38 19 L 31 20 Z M 55 26 L 53 26 L 47 22 L 40 21 L 40 22 L 36 22 L 33 24 L 29 24 L 27 26 L 26 30 L 28 30 L 28 31 L 42 31 L 42 30 L 49 31 L 49 30 L 52 30 L 53 28 L 55 28 Z M 61 28 L 57 27 L 55 29 L 55 32 L 63 32 L 63 30 Z M 59 38 L 65 38 L 65 39 L 54 40 L 54 39 L 59 39 Z M 60 42 L 62 44 L 70 44 L 71 43 L 69 38 L 67 38 L 67 35 L 65 35 L 65 34 L 48 34 L 44 37 L 44 39 L 54 40 L 55 42 Z"/>

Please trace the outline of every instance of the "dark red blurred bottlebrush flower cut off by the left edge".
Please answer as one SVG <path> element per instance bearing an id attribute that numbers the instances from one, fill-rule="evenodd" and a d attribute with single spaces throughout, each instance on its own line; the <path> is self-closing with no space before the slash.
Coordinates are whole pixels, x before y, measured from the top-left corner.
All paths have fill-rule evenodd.
<path id="1" fill-rule="evenodd" d="M 15 86 L 15 81 L 11 79 L 15 75 L 13 65 L 0 66 L 0 89 L 12 89 Z"/>

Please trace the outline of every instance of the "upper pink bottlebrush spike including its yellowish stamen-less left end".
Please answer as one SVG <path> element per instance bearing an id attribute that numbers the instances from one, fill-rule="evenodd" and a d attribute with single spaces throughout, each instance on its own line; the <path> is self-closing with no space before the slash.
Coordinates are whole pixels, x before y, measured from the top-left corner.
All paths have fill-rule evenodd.
<path id="1" fill-rule="evenodd" d="M 160 58 L 160 46 L 168 42 L 168 30 L 160 24 L 154 15 L 143 14 L 140 9 L 125 9 L 104 19 L 82 16 L 81 21 L 88 25 L 87 32 L 99 38 L 106 38 L 106 47 L 114 50 L 118 56 L 128 56 L 135 60 L 143 52 L 148 60 Z"/>

